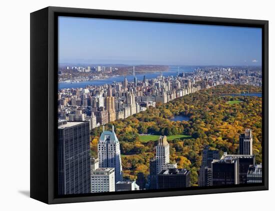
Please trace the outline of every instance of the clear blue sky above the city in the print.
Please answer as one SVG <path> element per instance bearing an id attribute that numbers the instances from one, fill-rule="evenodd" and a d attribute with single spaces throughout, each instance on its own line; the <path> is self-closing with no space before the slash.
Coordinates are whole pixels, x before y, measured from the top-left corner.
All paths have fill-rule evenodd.
<path id="1" fill-rule="evenodd" d="M 261 64 L 260 28 L 59 17 L 58 36 L 60 63 Z"/>

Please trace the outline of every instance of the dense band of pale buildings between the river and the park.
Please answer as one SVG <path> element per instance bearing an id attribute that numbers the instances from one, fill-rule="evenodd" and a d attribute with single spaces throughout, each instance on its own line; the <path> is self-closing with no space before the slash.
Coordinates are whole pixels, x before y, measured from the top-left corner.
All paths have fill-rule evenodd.
<path id="1" fill-rule="evenodd" d="M 60 89 L 58 118 L 68 121 L 89 121 L 90 129 L 117 119 L 125 119 L 146 110 L 155 103 L 167 103 L 178 97 L 218 82 L 203 77 L 163 77 L 137 81 L 133 67 L 133 82 L 125 77 L 122 82 L 86 88 Z"/>

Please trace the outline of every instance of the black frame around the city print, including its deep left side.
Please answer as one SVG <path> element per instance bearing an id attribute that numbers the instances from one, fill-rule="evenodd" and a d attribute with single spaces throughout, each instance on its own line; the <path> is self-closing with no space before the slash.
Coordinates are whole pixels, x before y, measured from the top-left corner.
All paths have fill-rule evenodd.
<path id="1" fill-rule="evenodd" d="M 57 17 L 97 17 L 262 28 L 262 180 L 260 184 L 142 190 L 104 194 L 56 194 Z M 42 94 L 41 94 L 42 93 Z M 30 14 L 30 197 L 47 204 L 268 190 L 268 21 L 98 9 L 46 7 Z"/>

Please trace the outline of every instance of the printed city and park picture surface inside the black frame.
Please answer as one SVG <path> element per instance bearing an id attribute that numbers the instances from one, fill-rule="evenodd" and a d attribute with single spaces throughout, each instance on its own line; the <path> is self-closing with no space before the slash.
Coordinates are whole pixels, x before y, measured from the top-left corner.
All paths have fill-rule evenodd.
<path id="1" fill-rule="evenodd" d="M 58 195 L 262 182 L 261 29 L 58 17 Z"/>

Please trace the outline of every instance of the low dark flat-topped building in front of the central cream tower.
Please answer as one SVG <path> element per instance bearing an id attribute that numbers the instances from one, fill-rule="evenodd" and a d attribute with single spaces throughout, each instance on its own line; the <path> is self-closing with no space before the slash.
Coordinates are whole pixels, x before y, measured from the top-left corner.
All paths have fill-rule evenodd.
<path id="1" fill-rule="evenodd" d="M 190 171 L 186 169 L 162 170 L 157 175 L 157 188 L 186 188 L 190 187 Z"/>

